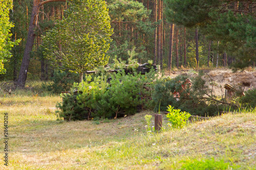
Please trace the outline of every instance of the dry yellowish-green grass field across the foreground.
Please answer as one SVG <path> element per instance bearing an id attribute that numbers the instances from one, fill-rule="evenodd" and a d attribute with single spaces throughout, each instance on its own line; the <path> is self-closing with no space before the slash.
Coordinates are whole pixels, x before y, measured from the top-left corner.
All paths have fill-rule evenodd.
<path id="1" fill-rule="evenodd" d="M 36 94 L 0 98 L 1 141 L 8 113 L 8 169 L 179 169 L 184 161 L 211 158 L 228 163 L 229 169 L 256 167 L 255 112 L 224 114 L 180 130 L 166 127 L 147 134 L 144 116 L 152 111 L 63 122 L 55 115 L 60 101 L 59 96 Z M 7 169 L 0 162 L 0 169 Z"/>

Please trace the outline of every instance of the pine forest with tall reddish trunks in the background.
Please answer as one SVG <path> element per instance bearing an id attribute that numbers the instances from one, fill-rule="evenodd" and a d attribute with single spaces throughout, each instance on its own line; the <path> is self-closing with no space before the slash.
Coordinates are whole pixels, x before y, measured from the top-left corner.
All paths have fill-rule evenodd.
<path id="1" fill-rule="evenodd" d="M 69 7 L 68 1 L 48 1 L 13 1 L 11 41 L 20 41 L 4 62 L 6 74 L 0 75 L 1 80 L 48 80 L 53 75 L 42 36 Z M 254 1 L 108 0 L 106 4 L 113 29 L 106 52 L 109 63 L 133 57 L 139 63 L 152 60 L 163 69 L 255 64 Z"/>

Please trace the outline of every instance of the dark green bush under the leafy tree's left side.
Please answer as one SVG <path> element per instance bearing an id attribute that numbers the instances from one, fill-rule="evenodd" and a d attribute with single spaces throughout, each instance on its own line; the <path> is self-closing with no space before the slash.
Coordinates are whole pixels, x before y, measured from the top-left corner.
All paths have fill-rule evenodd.
<path id="1" fill-rule="evenodd" d="M 42 88 L 55 94 L 60 94 L 62 91 L 68 91 L 74 82 L 79 80 L 79 76 L 69 71 L 58 71 L 55 70 L 53 77 L 51 78 L 52 83 L 42 84 Z"/>

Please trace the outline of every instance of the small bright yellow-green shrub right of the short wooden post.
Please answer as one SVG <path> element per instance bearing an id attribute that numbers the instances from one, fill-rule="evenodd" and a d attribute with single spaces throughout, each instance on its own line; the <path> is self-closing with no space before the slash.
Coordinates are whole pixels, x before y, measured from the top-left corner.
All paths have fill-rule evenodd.
<path id="1" fill-rule="evenodd" d="M 187 124 L 187 120 L 190 114 L 187 112 L 181 112 L 180 109 L 174 109 L 172 106 L 167 106 L 167 111 L 169 112 L 166 117 L 169 118 L 168 121 L 172 124 L 173 128 L 183 128 Z"/>

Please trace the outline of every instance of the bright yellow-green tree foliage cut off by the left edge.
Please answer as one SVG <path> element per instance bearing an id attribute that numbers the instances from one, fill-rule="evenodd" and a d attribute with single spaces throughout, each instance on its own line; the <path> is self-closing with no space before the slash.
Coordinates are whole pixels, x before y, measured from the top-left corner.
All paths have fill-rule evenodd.
<path id="1" fill-rule="evenodd" d="M 11 57 L 11 48 L 18 44 L 20 40 L 11 41 L 12 34 L 10 30 L 14 27 L 13 23 L 9 21 L 9 10 L 12 9 L 12 0 L 0 2 L 0 74 L 5 74 L 4 62 Z"/>

